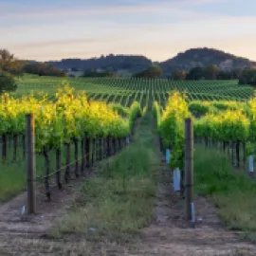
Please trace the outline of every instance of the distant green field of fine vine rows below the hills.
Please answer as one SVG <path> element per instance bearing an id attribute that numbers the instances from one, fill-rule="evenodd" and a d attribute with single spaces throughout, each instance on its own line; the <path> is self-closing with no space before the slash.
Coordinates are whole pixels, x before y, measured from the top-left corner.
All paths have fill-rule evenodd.
<path id="1" fill-rule="evenodd" d="M 254 90 L 248 85 L 238 85 L 237 81 L 172 81 L 147 79 L 108 79 L 108 78 L 68 78 L 66 82 L 76 90 L 86 91 L 88 99 L 120 103 L 129 107 L 133 101 L 142 107 L 152 105 L 154 101 L 164 107 L 169 92 L 177 89 L 187 93 L 189 101 L 247 101 L 254 96 Z M 54 98 L 55 91 L 63 79 L 25 76 L 18 80 L 16 97 L 22 97 L 33 91 L 48 94 Z"/>

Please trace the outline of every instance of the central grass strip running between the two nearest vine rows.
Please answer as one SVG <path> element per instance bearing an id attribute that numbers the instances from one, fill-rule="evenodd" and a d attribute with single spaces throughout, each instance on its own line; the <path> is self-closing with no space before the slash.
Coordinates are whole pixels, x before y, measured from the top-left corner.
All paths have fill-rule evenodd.
<path id="1" fill-rule="evenodd" d="M 152 116 L 146 114 L 134 142 L 102 163 L 101 172 L 87 180 L 66 215 L 51 231 L 122 238 L 148 225 L 153 216 L 159 165 L 154 150 Z"/>

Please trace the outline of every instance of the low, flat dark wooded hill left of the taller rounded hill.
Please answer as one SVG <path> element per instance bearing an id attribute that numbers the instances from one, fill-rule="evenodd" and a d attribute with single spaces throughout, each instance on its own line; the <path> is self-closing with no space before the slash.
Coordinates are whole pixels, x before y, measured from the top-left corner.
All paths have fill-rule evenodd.
<path id="1" fill-rule="evenodd" d="M 144 56 L 113 55 L 92 59 L 65 59 L 60 62 L 47 62 L 61 69 L 76 68 L 79 70 L 96 69 L 133 74 L 141 72 L 152 65 L 152 61 Z"/>

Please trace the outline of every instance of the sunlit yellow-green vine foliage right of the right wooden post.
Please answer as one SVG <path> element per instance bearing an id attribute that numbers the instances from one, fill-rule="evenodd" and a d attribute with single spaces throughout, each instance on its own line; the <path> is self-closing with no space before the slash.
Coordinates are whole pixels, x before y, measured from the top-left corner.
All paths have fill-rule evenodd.
<path id="1" fill-rule="evenodd" d="M 220 141 L 247 141 L 251 130 L 251 115 L 248 113 L 251 113 L 254 101 L 249 101 L 250 106 L 243 101 L 192 101 L 190 110 L 200 113 L 199 118 L 194 115 L 195 136 Z"/>

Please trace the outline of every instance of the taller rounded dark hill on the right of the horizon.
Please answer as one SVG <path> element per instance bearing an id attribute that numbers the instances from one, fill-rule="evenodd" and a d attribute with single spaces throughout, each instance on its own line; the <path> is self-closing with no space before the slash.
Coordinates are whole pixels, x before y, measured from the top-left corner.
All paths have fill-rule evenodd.
<path id="1" fill-rule="evenodd" d="M 245 68 L 256 65 L 248 59 L 234 56 L 213 48 L 192 48 L 179 53 L 173 59 L 160 63 L 165 76 L 168 76 L 176 69 L 190 70 L 195 66 L 207 66 L 216 64 L 221 70 L 229 71 L 236 68 Z"/>

